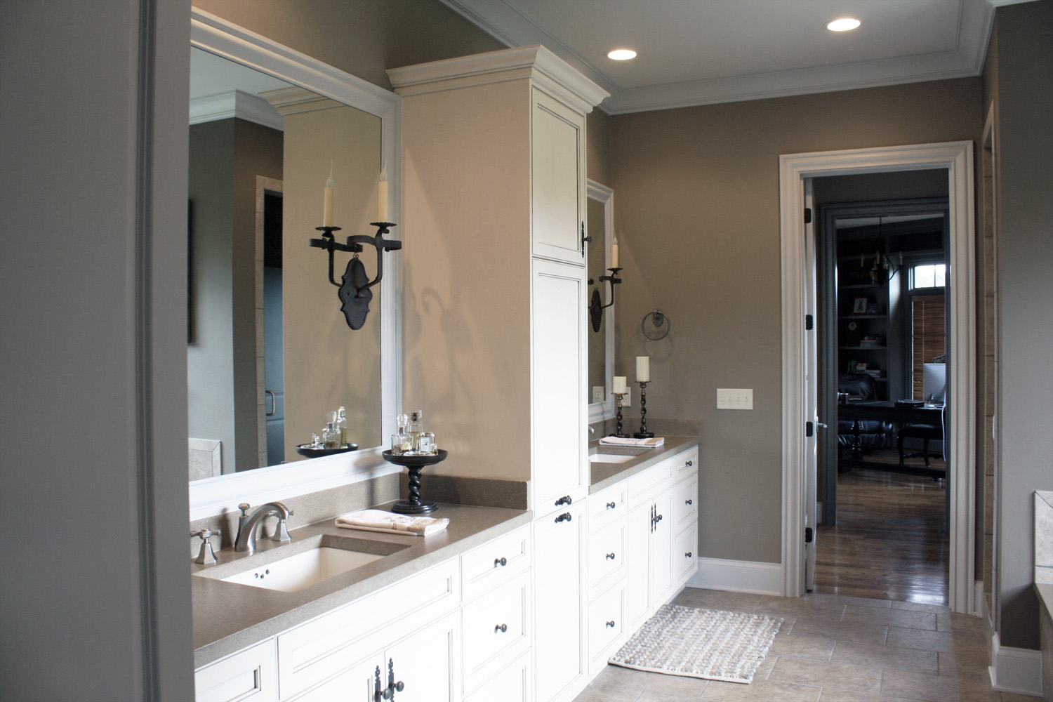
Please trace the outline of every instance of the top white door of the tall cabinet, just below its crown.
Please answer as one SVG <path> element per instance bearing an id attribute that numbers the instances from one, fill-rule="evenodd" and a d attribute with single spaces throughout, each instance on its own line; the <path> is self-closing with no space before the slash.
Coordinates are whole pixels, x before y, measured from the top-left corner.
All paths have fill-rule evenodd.
<path id="1" fill-rule="evenodd" d="M 584 117 L 535 89 L 532 122 L 532 250 L 580 265 Z"/>

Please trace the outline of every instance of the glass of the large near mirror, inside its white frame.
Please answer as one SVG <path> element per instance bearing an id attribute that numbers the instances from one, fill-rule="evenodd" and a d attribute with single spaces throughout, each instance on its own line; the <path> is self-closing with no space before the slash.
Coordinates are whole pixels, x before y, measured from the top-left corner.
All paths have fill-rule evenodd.
<path id="1" fill-rule="evenodd" d="M 380 299 L 349 329 L 307 240 L 331 167 L 339 234 L 374 234 L 380 118 L 196 48 L 191 86 L 191 480 L 300 460 L 341 405 L 379 445 Z"/>

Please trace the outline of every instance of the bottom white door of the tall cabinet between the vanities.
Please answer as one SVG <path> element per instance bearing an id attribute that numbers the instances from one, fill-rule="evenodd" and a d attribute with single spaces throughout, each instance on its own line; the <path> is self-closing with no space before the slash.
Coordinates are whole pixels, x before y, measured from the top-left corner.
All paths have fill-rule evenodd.
<path id="1" fill-rule="evenodd" d="M 582 585 L 584 506 L 534 522 L 534 640 L 538 702 L 549 702 L 584 675 Z"/>

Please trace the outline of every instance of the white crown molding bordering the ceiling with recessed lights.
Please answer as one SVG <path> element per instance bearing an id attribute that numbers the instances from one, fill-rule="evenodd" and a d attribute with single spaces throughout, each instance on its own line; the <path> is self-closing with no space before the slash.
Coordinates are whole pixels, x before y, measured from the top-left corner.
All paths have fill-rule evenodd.
<path id="1" fill-rule="evenodd" d="M 611 115 L 966 78 L 984 69 L 994 5 L 1029 0 L 966 0 L 956 51 L 714 80 L 620 88 L 573 48 L 504 0 L 440 0 L 508 46 L 542 44 L 602 86 Z"/>

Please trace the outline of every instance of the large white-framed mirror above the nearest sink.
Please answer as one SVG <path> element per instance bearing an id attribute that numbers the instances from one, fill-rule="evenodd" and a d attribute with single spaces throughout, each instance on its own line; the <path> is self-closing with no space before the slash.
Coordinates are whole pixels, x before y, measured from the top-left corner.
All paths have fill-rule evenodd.
<path id="1" fill-rule="evenodd" d="M 382 207 L 399 221 L 398 96 L 196 8 L 191 52 L 194 520 L 394 469 L 379 453 L 400 397 L 401 283 L 398 254 L 385 254 L 366 323 L 352 330 L 326 254 L 309 246 L 327 182 L 338 240 L 376 234 Z M 358 449 L 299 455 L 340 406 Z"/>

